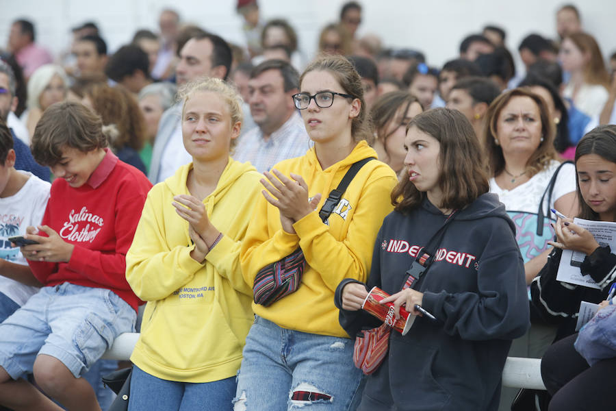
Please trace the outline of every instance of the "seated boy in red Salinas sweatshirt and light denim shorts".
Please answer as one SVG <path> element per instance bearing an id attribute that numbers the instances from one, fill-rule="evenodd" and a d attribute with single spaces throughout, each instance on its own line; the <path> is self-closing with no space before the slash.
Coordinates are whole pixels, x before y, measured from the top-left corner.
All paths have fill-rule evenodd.
<path id="1" fill-rule="evenodd" d="M 78 103 L 45 110 L 32 152 L 56 179 L 38 227 L 21 247 L 43 288 L 0 324 L 0 404 L 60 410 L 21 377 L 34 371 L 40 388 L 67 410 L 100 410 L 80 378 L 123 332 L 132 332 L 138 298 L 125 278 L 128 251 L 148 179 L 107 149 L 99 116 Z"/>

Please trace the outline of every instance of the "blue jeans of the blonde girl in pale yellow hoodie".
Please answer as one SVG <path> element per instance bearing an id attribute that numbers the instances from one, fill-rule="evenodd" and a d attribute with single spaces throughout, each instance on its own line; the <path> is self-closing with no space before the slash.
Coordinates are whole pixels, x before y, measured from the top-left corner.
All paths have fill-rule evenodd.
<path id="1" fill-rule="evenodd" d="M 175 382 L 133 366 L 129 411 L 231 411 L 235 377 L 214 382 Z"/>

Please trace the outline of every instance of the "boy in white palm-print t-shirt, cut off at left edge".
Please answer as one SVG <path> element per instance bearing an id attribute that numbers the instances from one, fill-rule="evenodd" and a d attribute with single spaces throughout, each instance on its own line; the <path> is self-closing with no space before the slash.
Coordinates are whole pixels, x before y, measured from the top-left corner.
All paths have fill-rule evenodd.
<path id="1" fill-rule="evenodd" d="M 42 220 L 51 184 L 14 165 L 13 137 L 0 119 L 0 323 L 38 291 L 40 282 L 10 237 Z"/>

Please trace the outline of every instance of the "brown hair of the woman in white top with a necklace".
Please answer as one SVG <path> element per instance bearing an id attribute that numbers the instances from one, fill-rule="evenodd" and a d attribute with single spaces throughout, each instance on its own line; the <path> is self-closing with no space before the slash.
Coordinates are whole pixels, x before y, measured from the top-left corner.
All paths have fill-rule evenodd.
<path id="1" fill-rule="evenodd" d="M 492 101 L 486 113 L 483 140 L 485 153 L 488 155 L 488 166 L 491 175 L 496 176 L 502 173 L 505 161 L 502 154 L 502 147 L 496 142 L 498 139 L 496 123 L 498 123 L 498 117 L 502 109 L 509 104 L 509 101 L 514 97 L 530 97 L 539 108 L 541 136 L 543 136 L 543 141 L 539 142 L 539 147 L 530 155 L 530 158 L 528 158 L 526 162 L 526 172 L 528 173 L 528 177 L 532 177 L 548 166 L 551 160 L 556 160 L 558 158 L 558 153 L 556 153 L 556 149 L 554 149 L 554 125 L 552 125 L 552 121 L 550 121 L 548 107 L 541 97 L 530 91 L 530 88 L 514 88 L 513 90 L 504 92 Z"/>

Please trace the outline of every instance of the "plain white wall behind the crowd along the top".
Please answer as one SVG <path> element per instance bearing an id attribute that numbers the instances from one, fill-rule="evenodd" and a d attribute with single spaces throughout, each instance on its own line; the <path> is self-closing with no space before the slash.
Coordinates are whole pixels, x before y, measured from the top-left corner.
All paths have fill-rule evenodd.
<path id="1" fill-rule="evenodd" d="M 318 33 L 336 21 L 345 0 L 259 0 L 261 16 L 284 17 L 296 28 L 300 49 L 316 50 Z M 569 0 L 566 0 L 569 1 Z M 530 32 L 555 37 L 555 11 L 561 0 L 360 0 L 359 32 L 374 32 L 385 45 L 424 51 L 428 63 L 440 66 L 457 56 L 459 42 L 487 23 L 507 32 L 506 45 L 515 58 L 519 42 Z M 101 27 L 110 51 L 129 42 L 140 28 L 156 31 L 157 16 L 167 5 L 183 21 L 196 23 L 232 42 L 243 42 L 235 0 L 0 0 L 0 45 L 6 45 L 10 23 L 20 17 L 36 25 L 38 42 L 54 53 L 68 47 L 70 27 L 92 20 Z M 608 57 L 616 51 L 613 29 L 616 1 L 585 0 L 577 4 L 582 23 Z M 1 47 L 0 46 L 0 47 Z M 518 60 L 519 63 L 519 60 Z M 518 64 L 519 66 L 520 64 Z"/>

